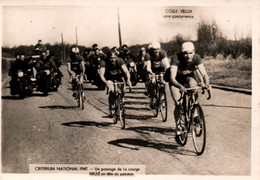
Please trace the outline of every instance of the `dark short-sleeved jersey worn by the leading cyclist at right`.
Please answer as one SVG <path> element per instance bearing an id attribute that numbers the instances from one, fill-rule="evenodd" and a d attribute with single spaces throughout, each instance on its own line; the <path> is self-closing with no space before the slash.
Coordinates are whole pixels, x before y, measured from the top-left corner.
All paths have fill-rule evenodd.
<path id="1" fill-rule="evenodd" d="M 182 53 L 177 53 L 171 58 L 171 65 L 178 66 L 178 72 L 179 75 L 189 75 L 192 74 L 197 68 L 198 65 L 202 64 L 202 60 L 198 54 L 195 54 L 193 56 L 193 59 L 191 62 L 187 62 L 184 59 L 184 56 Z"/>

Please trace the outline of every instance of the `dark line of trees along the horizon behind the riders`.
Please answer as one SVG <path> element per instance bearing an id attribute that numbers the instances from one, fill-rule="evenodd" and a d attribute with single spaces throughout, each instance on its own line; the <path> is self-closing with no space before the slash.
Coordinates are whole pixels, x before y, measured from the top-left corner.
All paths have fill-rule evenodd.
<path id="1" fill-rule="evenodd" d="M 164 49 L 168 56 L 173 55 L 180 51 L 181 44 L 190 39 L 184 37 L 182 34 L 177 34 L 169 42 L 161 42 L 162 49 Z M 252 38 L 240 38 L 235 40 L 228 40 L 222 33 L 221 29 L 217 26 L 216 22 L 202 21 L 198 24 L 197 28 L 197 40 L 193 41 L 196 47 L 196 53 L 201 57 L 212 56 L 216 58 L 217 55 L 222 55 L 224 58 L 231 56 L 236 59 L 243 55 L 245 58 L 252 57 Z M 56 56 L 56 58 L 66 62 L 66 57 L 70 55 L 71 48 L 74 44 L 45 44 L 46 47 Z M 90 47 L 78 46 L 80 52 L 90 50 Z M 138 44 L 130 47 L 131 52 L 134 56 L 140 51 L 141 47 L 148 47 L 148 44 Z M 18 47 L 2 47 L 2 52 L 10 54 L 14 57 L 15 53 L 23 52 L 26 55 L 31 55 L 34 50 L 34 45 L 25 46 L 21 45 Z M 103 47 L 102 50 L 106 53 L 109 47 Z M 64 58 L 65 57 L 65 58 Z"/>

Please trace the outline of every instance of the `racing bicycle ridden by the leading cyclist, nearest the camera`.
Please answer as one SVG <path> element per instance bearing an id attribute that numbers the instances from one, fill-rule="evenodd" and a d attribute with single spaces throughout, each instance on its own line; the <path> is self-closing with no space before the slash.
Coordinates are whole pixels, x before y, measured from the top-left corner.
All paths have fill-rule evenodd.
<path id="1" fill-rule="evenodd" d="M 181 97 L 178 100 L 179 118 L 176 120 L 179 134 L 176 133 L 175 140 L 181 146 L 187 143 L 188 134 L 192 134 L 193 145 L 197 155 L 201 155 L 206 147 L 206 123 L 203 110 L 197 100 L 198 91 L 205 90 L 202 87 L 187 88 L 187 92 L 181 92 Z M 210 89 L 207 90 L 209 100 L 211 98 Z"/>

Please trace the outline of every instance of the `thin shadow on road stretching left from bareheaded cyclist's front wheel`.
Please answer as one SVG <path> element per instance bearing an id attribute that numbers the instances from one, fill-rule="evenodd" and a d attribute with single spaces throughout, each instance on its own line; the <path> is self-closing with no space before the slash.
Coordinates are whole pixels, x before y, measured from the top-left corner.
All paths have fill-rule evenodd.
<path id="1" fill-rule="evenodd" d="M 62 123 L 61 125 L 70 126 L 70 127 L 80 127 L 80 128 L 84 128 L 85 126 L 96 126 L 96 127 L 104 128 L 113 125 L 113 123 L 108 123 L 108 122 L 98 123 L 94 121 L 76 121 L 76 122 Z"/>

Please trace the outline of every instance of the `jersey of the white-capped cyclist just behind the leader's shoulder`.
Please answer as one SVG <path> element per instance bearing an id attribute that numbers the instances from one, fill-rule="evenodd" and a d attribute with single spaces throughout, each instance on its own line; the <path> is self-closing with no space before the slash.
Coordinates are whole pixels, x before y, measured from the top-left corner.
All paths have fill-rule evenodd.
<path id="1" fill-rule="evenodd" d="M 152 71 L 154 73 L 157 73 L 157 72 L 164 72 L 165 71 L 165 68 L 164 68 L 164 65 L 162 63 L 162 60 L 167 57 L 167 54 L 164 50 L 160 50 L 159 52 L 159 55 L 156 56 L 155 54 L 153 54 L 153 52 L 149 52 L 149 53 L 146 53 L 145 55 L 145 60 L 146 61 L 151 61 L 151 68 L 152 68 Z"/>

